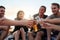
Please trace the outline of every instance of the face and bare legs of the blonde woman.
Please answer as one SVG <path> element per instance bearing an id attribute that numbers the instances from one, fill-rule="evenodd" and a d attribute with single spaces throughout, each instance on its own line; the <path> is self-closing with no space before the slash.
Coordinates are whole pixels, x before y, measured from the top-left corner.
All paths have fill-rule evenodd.
<path id="1" fill-rule="evenodd" d="M 17 17 L 20 19 L 20 20 L 23 20 L 24 18 L 24 12 L 19 12 L 19 14 L 17 14 Z M 15 40 L 19 40 L 19 35 L 21 34 L 22 36 L 22 40 L 25 40 L 25 31 L 23 28 L 20 28 L 20 30 L 17 30 L 16 32 L 13 33 L 14 34 L 14 37 L 15 37 Z"/>

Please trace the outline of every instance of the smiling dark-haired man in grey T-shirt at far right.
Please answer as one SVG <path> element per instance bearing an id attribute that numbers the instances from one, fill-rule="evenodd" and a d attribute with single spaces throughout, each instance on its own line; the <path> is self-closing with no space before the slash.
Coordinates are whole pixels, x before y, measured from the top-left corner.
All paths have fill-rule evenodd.
<path id="1" fill-rule="evenodd" d="M 60 25 L 60 22 L 59 22 L 59 19 L 60 19 L 59 4 L 58 3 L 52 3 L 51 10 L 52 10 L 53 14 L 51 16 L 47 17 L 45 22 L 55 24 L 55 25 Z M 50 32 L 51 31 L 49 30 L 48 33 L 50 33 Z M 52 34 L 53 37 L 51 40 L 55 40 L 58 33 L 59 33 L 58 31 L 53 30 L 53 34 Z M 50 39 L 48 38 L 48 40 L 50 40 Z"/>

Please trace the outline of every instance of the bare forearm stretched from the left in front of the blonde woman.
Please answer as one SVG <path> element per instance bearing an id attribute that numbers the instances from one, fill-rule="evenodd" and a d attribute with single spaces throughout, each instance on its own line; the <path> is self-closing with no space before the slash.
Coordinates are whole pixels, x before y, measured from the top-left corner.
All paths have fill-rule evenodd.
<path id="1" fill-rule="evenodd" d="M 5 19 L 4 21 L 2 21 L 2 25 L 4 26 L 17 26 L 17 25 L 24 25 L 25 22 L 24 21 L 14 21 L 14 20 L 8 20 L 8 19 Z"/>

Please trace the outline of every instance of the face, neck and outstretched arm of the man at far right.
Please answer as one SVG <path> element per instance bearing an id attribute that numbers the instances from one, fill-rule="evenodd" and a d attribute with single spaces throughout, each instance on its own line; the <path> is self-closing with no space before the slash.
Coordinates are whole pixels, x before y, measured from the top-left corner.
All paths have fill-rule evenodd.
<path id="1" fill-rule="evenodd" d="M 56 5 L 52 5 L 51 10 L 54 15 L 60 16 L 59 8 Z M 60 23 L 60 18 L 50 19 L 49 17 L 47 17 L 45 19 L 45 22 L 53 23 L 53 24 Z"/>

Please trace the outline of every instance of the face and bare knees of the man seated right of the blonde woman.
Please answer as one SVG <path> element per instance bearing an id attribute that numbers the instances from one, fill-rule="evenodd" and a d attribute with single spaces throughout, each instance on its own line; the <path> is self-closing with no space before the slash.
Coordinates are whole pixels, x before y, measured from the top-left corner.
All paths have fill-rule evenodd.
<path id="1" fill-rule="evenodd" d="M 40 7 L 39 9 L 39 17 L 43 18 L 44 17 L 44 13 L 45 13 L 45 8 L 44 7 Z M 33 37 L 33 33 L 28 32 L 28 37 L 29 40 L 41 40 L 41 36 L 43 35 L 43 32 L 37 32 L 36 37 Z"/>

